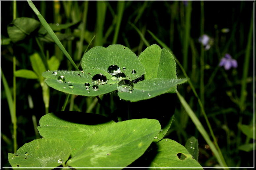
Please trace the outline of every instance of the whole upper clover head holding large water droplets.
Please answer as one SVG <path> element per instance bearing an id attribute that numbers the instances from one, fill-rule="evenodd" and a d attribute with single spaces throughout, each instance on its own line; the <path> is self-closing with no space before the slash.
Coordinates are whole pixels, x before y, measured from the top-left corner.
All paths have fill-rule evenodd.
<path id="1" fill-rule="evenodd" d="M 98 96 L 118 90 L 121 99 L 139 101 L 164 93 L 176 93 L 172 54 L 157 45 L 148 47 L 139 57 L 123 45 L 94 47 L 84 54 L 83 71 L 47 71 L 42 75 L 52 88 L 81 96 Z"/>

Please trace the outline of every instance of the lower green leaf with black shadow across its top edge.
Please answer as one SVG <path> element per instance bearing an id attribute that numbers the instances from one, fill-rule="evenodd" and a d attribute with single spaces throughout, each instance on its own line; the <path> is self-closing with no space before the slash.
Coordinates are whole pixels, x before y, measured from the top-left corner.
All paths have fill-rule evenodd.
<path id="1" fill-rule="evenodd" d="M 59 138 L 68 142 L 72 147 L 71 155 L 73 155 L 88 137 L 113 123 L 113 120 L 101 115 L 62 111 L 44 115 L 37 129 L 44 138 Z"/>

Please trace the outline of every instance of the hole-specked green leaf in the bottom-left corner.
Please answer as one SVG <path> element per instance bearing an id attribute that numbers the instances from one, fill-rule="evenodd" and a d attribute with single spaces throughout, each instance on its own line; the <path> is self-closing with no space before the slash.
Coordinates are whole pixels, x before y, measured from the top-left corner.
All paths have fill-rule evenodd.
<path id="1" fill-rule="evenodd" d="M 71 146 L 64 140 L 43 138 L 25 143 L 15 154 L 8 153 L 8 159 L 13 168 L 28 169 L 25 167 L 37 167 L 36 169 L 53 169 L 65 163 L 70 153 Z"/>

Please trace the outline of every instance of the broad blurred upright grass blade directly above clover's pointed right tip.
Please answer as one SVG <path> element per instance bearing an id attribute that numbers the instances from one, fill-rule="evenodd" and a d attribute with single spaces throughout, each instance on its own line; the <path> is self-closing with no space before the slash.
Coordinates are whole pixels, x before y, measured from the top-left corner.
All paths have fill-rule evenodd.
<path id="1" fill-rule="evenodd" d="M 190 20 L 191 20 L 191 7 L 192 2 L 187 3 L 185 7 L 185 36 L 184 36 L 184 48 L 183 48 L 183 67 L 184 70 L 187 71 L 187 63 L 188 63 L 188 47 L 190 41 Z"/>

